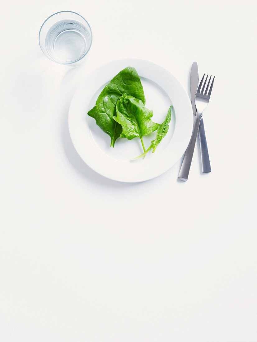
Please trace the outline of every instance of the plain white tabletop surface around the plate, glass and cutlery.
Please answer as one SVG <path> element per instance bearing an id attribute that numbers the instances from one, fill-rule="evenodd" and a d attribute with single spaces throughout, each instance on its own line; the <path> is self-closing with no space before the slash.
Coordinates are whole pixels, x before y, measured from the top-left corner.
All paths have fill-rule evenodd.
<path id="1" fill-rule="evenodd" d="M 8 1 L 1 6 L 1 341 L 255 342 L 254 1 Z M 38 46 L 56 11 L 88 19 L 86 64 Z M 70 99 L 86 73 L 143 58 L 189 91 L 193 61 L 216 76 L 198 150 L 140 184 L 107 180 L 76 154 Z"/>

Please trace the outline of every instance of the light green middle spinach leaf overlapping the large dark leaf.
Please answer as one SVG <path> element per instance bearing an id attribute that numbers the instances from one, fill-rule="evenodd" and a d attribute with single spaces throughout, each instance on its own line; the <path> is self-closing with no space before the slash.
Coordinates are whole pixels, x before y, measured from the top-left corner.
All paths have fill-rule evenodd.
<path id="1" fill-rule="evenodd" d="M 122 126 L 122 137 L 128 140 L 140 137 L 145 151 L 142 137 L 157 130 L 158 123 L 151 120 L 153 111 L 145 107 L 144 103 L 134 96 L 124 93 L 116 104 L 117 116 L 114 120 Z"/>

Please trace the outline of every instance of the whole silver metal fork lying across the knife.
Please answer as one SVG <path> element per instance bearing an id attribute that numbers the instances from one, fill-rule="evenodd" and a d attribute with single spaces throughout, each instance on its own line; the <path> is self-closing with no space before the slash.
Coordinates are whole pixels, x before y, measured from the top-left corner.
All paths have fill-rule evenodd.
<path id="1" fill-rule="evenodd" d="M 205 74 L 204 74 L 204 76 L 205 76 Z M 211 91 L 213 90 L 213 83 L 214 83 L 215 77 L 213 77 L 213 80 L 211 82 L 210 89 L 208 92 L 211 76 L 210 76 L 209 81 L 207 83 L 206 89 L 204 89 L 204 88 L 205 88 L 205 85 L 206 85 L 206 82 L 208 79 L 208 75 L 206 76 L 206 79 L 204 81 L 204 85 L 202 87 L 204 76 L 201 79 L 201 82 L 199 83 L 197 92 L 195 94 L 196 115 L 195 115 L 195 119 L 194 119 L 193 132 L 192 132 L 192 136 L 191 136 L 190 142 L 188 144 L 188 147 L 185 150 L 184 158 L 183 158 L 182 165 L 181 165 L 180 172 L 179 172 L 179 176 L 178 176 L 179 180 L 184 181 L 184 182 L 186 182 L 188 180 L 189 170 L 190 170 L 190 166 L 191 166 L 191 162 L 192 162 L 192 158 L 193 158 L 194 147 L 195 147 L 197 133 L 198 133 L 199 126 L 200 126 L 201 117 L 202 117 L 204 109 L 207 107 L 207 105 L 209 103 L 210 94 L 211 94 Z M 208 92 L 208 95 L 207 95 L 207 92 Z"/>

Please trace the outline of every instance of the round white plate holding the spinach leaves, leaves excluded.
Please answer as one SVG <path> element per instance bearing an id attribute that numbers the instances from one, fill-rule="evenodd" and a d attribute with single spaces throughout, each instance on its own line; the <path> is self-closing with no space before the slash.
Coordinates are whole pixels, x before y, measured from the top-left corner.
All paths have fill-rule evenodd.
<path id="1" fill-rule="evenodd" d="M 143 152 L 140 139 L 121 138 L 110 147 L 110 136 L 87 115 L 104 86 L 127 66 L 138 71 L 146 107 L 154 112 L 153 121 L 162 123 L 173 106 L 167 135 L 155 153 L 140 160 L 131 160 Z M 183 155 L 192 133 L 193 114 L 187 93 L 169 71 L 148 61 L 125 59 L 95 69 L 81 82 L 70 103 L 68 125 L 75 149 L 93 170 L 115 181 L 142 182 L 164 173 Z M 155 132 L 143 138 L 145 146 L 154 136 Z"/>

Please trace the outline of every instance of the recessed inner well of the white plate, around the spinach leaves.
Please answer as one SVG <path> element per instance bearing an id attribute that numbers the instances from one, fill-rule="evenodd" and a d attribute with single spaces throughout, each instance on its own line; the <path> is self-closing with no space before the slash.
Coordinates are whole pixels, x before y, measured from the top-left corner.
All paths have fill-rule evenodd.
<path id="1" fill-rule="evenodd" d="M 145 105 L 148 109 L 153 110 L 154 112 L 152 121 L 162 123 L 167 115 L 169 106 L 172 105 L 172 101 L 167 95 L 167 93 L 157 83 L 144 77 L 140 77 L 140 79 L 144 88 L 144 94 L 146 99 Z M 95 94 L 91 98 L 88 108 L 86 109 L 86 113 L 91 108 L 93 108 L 100 92 L 103 90 L 107 83 L 103 84 L 102 87 L 95 92 Z M 158 145 L 155 153 L 150 152 L 147 154 L 144 160 L 140 159 L 137 162 L 145 162 L 147 159 L 154 158 L 155 154 L 162 153 L 162 151 L 170 143 L 170 140 L 172 139 L 172 135 L 175 129 L 175 110 L 176 108 L 172 107 L 169 131 L 162 140 L 162 142 L 160 142 L 160 144 Z M 95 124 L 95 120 L 89 117 L 88 115 L 85 115 L 85 120 L 89 126 L 91 134 L 90 138 L 92 140 L 92 143 L 97 149 L 100 149 L 101 152 L 109 158 L 111 157 L 119 161 L 123 160 L 124 162 L 129 162 L 133 157 L 137 157 L 138 155 L 143 153 L 142 145 L 139 138 L 134 138 L 133 140 L 119 138 L 115 143 L 115 147 L 110 147 L 111 138 Z M 145 148 L 147 148 L 151 144 L 151 141 L 155 138 L 155 134 L 156 132 L 153 132 L 152 134 L 143 137 Z"/>

